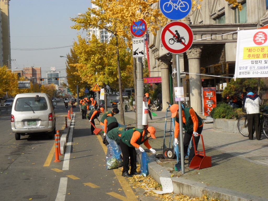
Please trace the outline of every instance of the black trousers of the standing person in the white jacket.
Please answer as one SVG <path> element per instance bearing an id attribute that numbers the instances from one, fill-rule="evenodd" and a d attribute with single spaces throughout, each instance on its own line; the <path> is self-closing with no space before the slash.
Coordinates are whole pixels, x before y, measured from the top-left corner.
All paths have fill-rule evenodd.
<path id="1" fill-rule="evenodd" d="M 260 140 L 260 114 L 247 114 L 248 120 L 248 139 L 253 140 L 253 134 L 256 131 L 256 138 Z"/>

